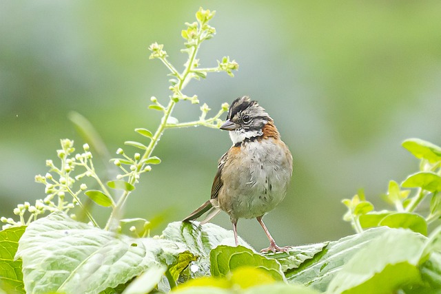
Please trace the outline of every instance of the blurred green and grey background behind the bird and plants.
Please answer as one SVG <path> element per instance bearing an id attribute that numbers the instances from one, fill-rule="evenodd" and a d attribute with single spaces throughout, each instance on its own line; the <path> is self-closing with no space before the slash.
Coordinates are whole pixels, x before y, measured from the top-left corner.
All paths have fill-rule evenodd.
<path id="1" fill-rule="evenodd" d="M 147 47 L 163 43 L 170 61 L 183 64 L 181 30 L 199 6 L 216 10 L 217 30 L 201 65 L 229 55 L 240 69 L 234 78 L 209 74 L 185 94 L 214 113 L 251 96 L 294 156 L 288 196 L 265 217 L 278 244 L 352 233 L 340 200 L 363 188 L 380 209 L 389 180 L 418 169 L 402 140 L 441 144 L 440 1 L 2 1 L 1 216 L 44 197 L 34 175 L 45 174 L 45 159 L 55 161 L 60 138 L 81 149 L 72 110 L 112 154 L 124 140 L 142 140 L 135 127 L 156 128 L 150 96 L 166 103 L 170 92 L 167 70 L 148 59 Z M 194 120 L 199 106 L 179 103 L 174 114 Z M 126 216 L 162 215 L 153 233 L 187 216 L 209 198 L 217 160 L 230 146 L 216 129 L 165 132 L 154 153 L 163 162 L 143 175 Z M 104 220 L 109 211 L 99 212 Z M 231 229 L 225 213 L 214 223 Z M 240 220 L 238 231 L 256 248 L 267 246 L 256 220 Z"/>

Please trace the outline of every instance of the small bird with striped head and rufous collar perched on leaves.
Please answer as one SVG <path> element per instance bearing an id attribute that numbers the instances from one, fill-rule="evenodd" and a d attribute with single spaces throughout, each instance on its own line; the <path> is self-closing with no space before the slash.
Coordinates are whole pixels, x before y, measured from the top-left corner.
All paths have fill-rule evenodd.
<path id="1" fill-rule="evenodd" d="M 229 131 L 233 145 L 218 161 L 211 198 L 183 222 L 207 213 L 204 224 L 225 211 L 238 246 L 238 220 L 256 218 L 269 240 L 269 247 L 261 252 L 288 252 L 290 247 L 278 246 L 262 220 L 285 198 L 293 171 L 291 152 L 274 120 L 257 101 L 241 96 L 230 105 L 220 129 Z"/>

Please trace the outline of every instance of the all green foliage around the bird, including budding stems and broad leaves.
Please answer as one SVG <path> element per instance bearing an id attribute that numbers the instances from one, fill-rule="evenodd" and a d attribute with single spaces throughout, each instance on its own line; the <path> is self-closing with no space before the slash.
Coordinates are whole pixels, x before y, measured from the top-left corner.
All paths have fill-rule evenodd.
<path id="1" fill-rule="evenodd" d="M 152 223 L 143 218 L 123 219 L 127 197 L 135 191 L 141 174 L 161 163 L 153 155 L 165 129 L 203 125 L 217 128 L 227 111 L 224 103 L 212 118 L 206 103 L 198 120 L 179 123 L 172 116 L 177 103 L 198 104 L 196 95 L 183 90 L 192 79 L 209 72 L 233 76 L 238 69 L 228 56 L 217 67 L 199 67 L 196 55 L 203 41 L 216 30 L 209 25 L 214 12 L 200 8 L 196 21 L 185 23 L 181 36 L 188 55 L 182 72 L 168 61 L 162 44 L 150 45 L 150 59 L 159 59 L 170 70 L 167 103 L 152 97 L 150 109 L 163 115 L 155 132 L 136 128 L 147 142 L 125 141 L 133 155 L 116 151 L 114 166 L 121 173 L 102 180 L 95 170 L 88 144 L 75 154 L 72 140 L 61 140 L 59 165 L 48 160 L 50 171 L 37 176 L 47 196 L 19 204 L 20 220 L 1 218 L 0 293 L 437 293 L 441 291 L 441 227 L 429 238 L 428 224 L 441 216 L 441 148 L 420 139 L 404 141 L 403 147 L 420 159 L 420 171 L 401 185 L 391 180 L 384 199 L 394 209 L 375 211 L 360 191 L 347 206 L 344 219 L 356 235 L 337 241 L 293 246 L 283 253 L 257 253 L 234 234 L 214 224 L 172 222 L 160 236 L 150 237 Z M 100 154 L 101 145 L 85 118 L 72 118 Z M 99 189 L 88 189 L 89 178 Z M 403 189 L 403 188 L 411 188 Z M 413 194 L 411 194 L 413 191 Z M 104 228 L 94 220 L 82 198 L 111 209 Z M 67 200 L 66 196 L 70 196 Z M 427 201 L 429 200 L 430 201 Z M 429 212 L 416 209 L 429 202 Z M 78 205 L 89 224 L 77 222 L 70 211 Z M 50 212 L 48 216 L 44 213 Z M 29 216 L 30 215 L 30 216 Z M 153 220 L 152 220 L 153 222 Z M 26 224 L 28 227 L 22 227 Z M 130 225 L 135 237 L 121 233 Z"/>

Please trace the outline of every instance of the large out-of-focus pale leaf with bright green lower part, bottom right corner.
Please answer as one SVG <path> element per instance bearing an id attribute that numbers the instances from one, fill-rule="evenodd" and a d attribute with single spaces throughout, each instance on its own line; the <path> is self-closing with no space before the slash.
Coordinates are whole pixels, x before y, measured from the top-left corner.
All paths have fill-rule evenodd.
<path id="1" fill-rule="evenodd" d="M 395 293 L 405 285 L 420 284 L 418 263 L 425 238 L 392 229 L 353 255 L 329 284 L 329 293 Z"/>

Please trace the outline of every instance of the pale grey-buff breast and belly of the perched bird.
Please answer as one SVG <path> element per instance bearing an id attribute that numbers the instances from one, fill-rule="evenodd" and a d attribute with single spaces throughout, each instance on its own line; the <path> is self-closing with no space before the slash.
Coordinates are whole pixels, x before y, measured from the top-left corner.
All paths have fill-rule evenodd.
<path id="1" fill-rule="evenodd" d="M 225 167 L 225 180 L 219 193 L 220 209 L 232 219 L 256 218 L 274 209 L 285 198 L 292 166 L 283 149 L 272 144 L 262 152 L 261 144 L 249 144 L 240 167 Z M 268 151 L 268 146 L 265 146 Z M 229 176 L 229 172 L 232 175 Z"/>

